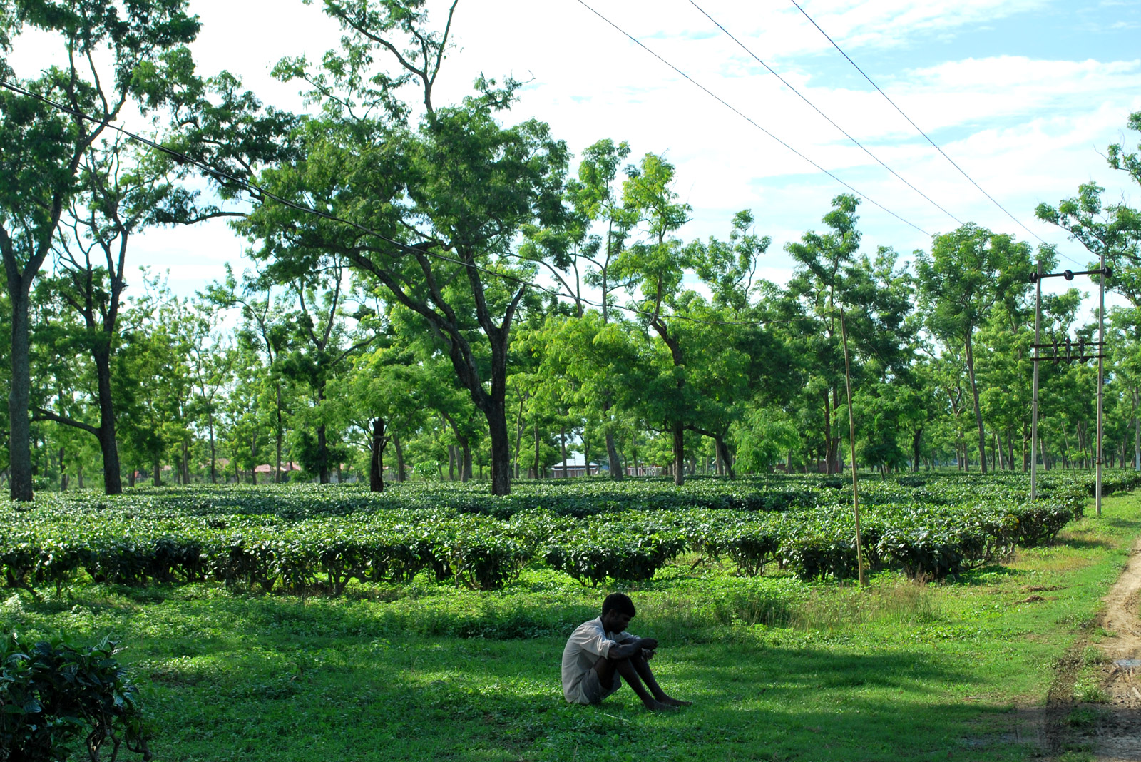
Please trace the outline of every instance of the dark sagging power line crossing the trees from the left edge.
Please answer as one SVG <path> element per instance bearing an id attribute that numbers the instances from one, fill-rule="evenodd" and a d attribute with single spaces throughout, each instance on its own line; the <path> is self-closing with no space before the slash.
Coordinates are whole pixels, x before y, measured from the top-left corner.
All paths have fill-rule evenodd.
<path id="1" fill-rule="evenodd" d="M 92 123 L 96 123 L 96 124 L 102 124 L 104 128 L 114 130 L 114 131 L 119 132 L 120 135 L 123 135 L 123 136 L 130 138 L 131 140 L 135 140 L 135 141 L 140 143 L 140 144 L 143 144 L 145 146 L 148 146 L 149 148 L 153 148 L 155 151 L 159 151 L 161 153 L 167 154 L 168 156 L 170 156 L 171 159 L 173 159 L 179 164 L 191 164 L 193 167 L 196 167 L 197 169 L 202 170 L 207 175 L 210 175 L 213 178 L 216 178 L 219 183 L 225 181 L 226 184 L 229 184 L 230 186 L 235 186 L 235 185 L 238 186 L 242 190 L 245 190 L 248 194 L 250 194 L 253 197 L 254 201 L 257 201 L 257 202 L 259 202 L 261 204 L 265 204 L 265 200 L 269 198 L 272 201 L 275 201 L 275 202 L 282 204 L 283 206 L 288 206 L 288 208 L 293 209 L 296 211 L 299 211 L 299 212 L 302 212 L 302 213 L 306 213 L 306 214 L 313 214 L 313 216 L 319 217 L 322 219 L 330 220 L 332 222 L 339 222 L 341 225 L 347 225 L 347 226 L 349 226 L 349 227 L 351 227 L 351 228 L 354 228 L 356 230 L 359 230 L 361 233 L 364 233 L 365 235 L 371 235 L 371 236 L 373 236 L 375 238 L 379 238 L 379 240 L 381 240 L 381 241 L 383 241 L 386 243 L 390 243 L 390 244 L 393 244 L 395 246 L 398 246 L 398 248 L 403 249 L 404 251 L 421 253 L 421 254 L 424 254 L 426 257 L 431 257 L 434 259 L 438 259 L 440 261 L 451 262 L 453 265 L 459 265 L 461 267 L 470 267 L 470 268 L 472 268 L 472 269 L 475 269 L 477 271 L 485 273 L 487 275 L 493 275 L 493 276 L 499 277 L 499 278 L 503 278 L 504 281 L 512 282 L 512 283 L 515 283 L 517 285 L 527 286 L 527 287 L 534 289 L 535 291 L 541 291 L 541 292 L 543 292 L 543 293 L 545 293 L 548 295 L 551 295 L 551 297 L 553 297 L 556 299 L 573 299 L 573 300 L 575 300 L 577 302 L 581 302 L 583 305 L 586 305 L 589 307 L 602 308 L 602 306 L 604 306 L 600 302 L 593 302 L 593 301 L 590 301 L 589 299 L 585 299 L 583 297 L 576 297 L 575 294 L 566 294 L 566 293 L 563 293 L 560 291 L 555 291 L 555 290 L 551 290 L 551 289 L 547 289 L 547 287 L 541 286 L 537 283 L 534 283 L 532 281 L 527 281 L 525 278 L 520 278 L 520 277 L 517 277 L 517 276 L 513 276 L 513 275 L 509 275 L 509 274 L 502 273 L 500 270 L 495 270 L 495 269 L 491 269 L 491 268 L 487 268 L 487 267 L 483 267 L 482 265 L 477 265 L 475 262 L 466 262 L 466 261 L 463 261 L 461 259 L 455 259 L 454 257 L 447 257 L 446 254 L 440 254 L 440 253 L 437 253 L 437 252 L 434 252 L 434 251 L 429 251 L 427 249 L 421 249 L 420 246 L 408 245 L 406 243 L 397 241 L 396 238 L 391 238 L 391 237 L 386 236 L 386 235 L 383 235 L 381 233 L 377 233 L 372 228 L 369 228 L 369 227 L 366 227 L 364 225 L 361 225 L 359 222 L 354 222 L 353 220 L 347 220 L 347 219 L 345 219 L 342 217 L 338 217 L 338 216 L 332 214 L 330 212 L 324 212 L 324 211 L 321 211 L 319 209 L 314 209 L 311 206 L 306 206 L 305 204 L 299 204 L 297 202 L 290 201 L 290 200 L 284 198 L 282 196 L 278 196 L 277 194 L 275 194 L 275 193 L 273 193 L 270 190 L 267 190 L 266 188 L 257 185 L 256 183 L 251 183 L 249 180 L 244 180 L 244 179 L 242 179 L 240 177 L 230 175 L 229 172 L 225 172 L 222 170 L 219 170 L 219 169 L 216 169 L 213 167 L 210 167 L 209 164 L 207 164 L 203 161 L 200 161 L 200 160 L 194 159 L 192 156 L 187 156 L 186 154 L 184 154 L 184 153 L 181 153 L 179 151 L 175 151 L 173 148 L 170 148 L 170 147 L 164 146 L 164 145 L 162 145 L 160 143 L 156 143 L 156 141 L 152 140 L 151 138 L 143 137 L 141 135 L 138 135 L 136 132 L 131 132 L 130 130 L 128 130 L 126 128 L 122 128 L 122 127 L 119 127 L 118 124 L 114 124 L 113 122 L 108 122 L 105 119 L 97 119 L 97 117 L 91 116 L 89 114 L 86 114 L 86 113 L 83 113 L 81 111 L 76 111 L 75 108 L 72 108 L 71 106 L 67 106 L 65 104 L 60 104 L 60 103 L 57 103 L 55 100 L 51 100 L 50 98 L 48 98 L 46 96 L 42 96 L 42 95 L 40 95 L 38 92 L 33 92 L 31 90 L 26 90 L 26 89 L 17 86 L 17 84 L 13 84 L 11 82 L 6 81 L 6 80 L 0 80 L 0 87 L 5 88 L 7 90 L 10 90 L 11 92 L 15 92 L 17 95 L 22 95 L 22 96 L 25 96 L 25 97 L 29 97 L 29 98 L 34 98 L 35 100 L 39 100 L 40 103 L 43 103 L 43 104 L 46 104 L 46 105 L 48 105 L 48 106 L 50 106 L 52 108 L 56 108 L 57 111 L 60 111 L 63 113 L 70 114 L 70 115 L 74 116 L 74 117 L 76 117 L 76 119 L 82 119 L 82 120 L 86 120 L 86 121 L 89 121 L 89 122 L 92 122 Z M 523 261 L 531 261 L 531 260 L 523 260 Z M 636 307 L 623 307 L 621 305 L 607 305 L 607 307 L 613 307 L 615 309 L 621 309 L 623 311 L 632 313 L 632 314 L 636 314 L 636 315 L 644 315 L 644 316 L 647 316 L 647 317 L 654 317 L 655 316 L 654 313 L 649 313 L 647 310 L 638 309 Z M 689 323 L 694 323 L 696 325 L 748 325 L 748 326 L 755 326 L 758 324 L 756 321 L 702 321 L 702 319 L 698 319 L 698 318 L 688 317 L 686 315 L 671 315 L 670 317 L 673 318 L 673 319 L 681 319 L 681 321 L 686 321 L 686 322 L 689 322 Z M 766 324 L 771 324 L 771 323 L 793 323 L 793 322 L 795 322 L 795 321 L 768 321 L 768 322 L 766 322 Z"/>

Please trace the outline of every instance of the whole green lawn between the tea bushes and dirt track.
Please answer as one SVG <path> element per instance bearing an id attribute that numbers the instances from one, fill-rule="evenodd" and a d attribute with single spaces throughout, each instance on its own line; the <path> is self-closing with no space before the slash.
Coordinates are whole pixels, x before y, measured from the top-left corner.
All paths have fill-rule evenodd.
<path id="1" fill-rule="evenodd" d="M 341 599 L 78 585 L 9 592 L 0 623 L 120 637 L 164 761 L 1026 760 L 1036 731 L 1012 710 L 1044 700 L 1141 534 L 1139 509 L 1107 498 L 1052 546 L 925 586 L 680 559 L 629 590 L 631 630 L 663 641 L 662 683 L 695 702 L 664 716 L 629 689 L 563 700 L 564 640 L 605 591 L 544 569 L 494 593 L 418 579 Z"/>

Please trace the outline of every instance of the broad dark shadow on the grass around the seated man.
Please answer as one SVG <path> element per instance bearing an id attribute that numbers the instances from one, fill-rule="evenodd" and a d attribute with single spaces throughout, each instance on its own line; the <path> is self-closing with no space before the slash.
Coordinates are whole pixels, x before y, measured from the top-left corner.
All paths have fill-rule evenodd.
<path id="1" fill-rule="evenodd" d="M 949 659 L 743 645 L 683 647 L 655 659 L 663 684 L 695 702 L 665 715 L 629 688 L 597 706 L 564 702 L 561 639 L 347 640 L 337 668 L 298 670 L 296 643 L 175 674 L 159 690 L 155 746 L 171 760 L 939 760 L 998 759 L 961 739 L 992 711 L 940 697 L 970 684 Z M 663 651 L 664 652 L 664 651 Z M 258 662 L 262 664 L 259 666 Z M 227 666 L 228 665 L 228 666 Z"/>

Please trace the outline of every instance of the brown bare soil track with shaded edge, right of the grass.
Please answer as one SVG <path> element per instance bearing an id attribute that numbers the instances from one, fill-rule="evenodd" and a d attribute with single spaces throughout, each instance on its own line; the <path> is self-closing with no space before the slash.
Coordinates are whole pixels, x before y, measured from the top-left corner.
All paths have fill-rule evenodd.
<path id="1" fill-rule="evenodd" d="M 1050 690 L 1042 740 L 1047 753 L 1087 748 L 1098 762 L 1141 761 L 1141 538 L 1130 551 L 1130 560 L 1104 598 L 1104 609 L 1059 664 Z M 1102 637 L 1092 639 L 1093 633 Z M 1104 656 L 1100 704 L 1073 700 L 1076 675 L 1093 646 Z M 1090 721 L 1075 722 L 1089 718 Z"/>

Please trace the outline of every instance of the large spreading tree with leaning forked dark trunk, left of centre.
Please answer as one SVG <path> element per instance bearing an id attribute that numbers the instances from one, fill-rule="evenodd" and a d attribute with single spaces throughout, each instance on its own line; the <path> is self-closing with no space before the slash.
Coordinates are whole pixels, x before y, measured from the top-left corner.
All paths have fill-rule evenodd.
<path id="1" fill-rule="evenodd" d="M 451 15 L 437 33 L 422 6 L 327 0 L 326 10 L 346 30 L 345 48 L 327 54 L 321 70 L 305 60 L 276 70 L 283 79 L 311 82 L 323 112 L 298 133 L 304 159 L 267 170 L 261 180 L 351 225 L 267 200 L 243 230 L 265 242 L 257 254 L 266 259 L 317 268 L 324 258 L 342 257 L 437 332 L 487 420 L 492 491 L 507 494 L 508 351 L 533 275 L 532 266 L 512 264 L 513 246 L 525 225 L 560 224 L 567 151 L 539 121 L 499 123 L 517 82 L 497 88 L 480 80 L 461 104 L 437 106 L 432 88 Z M 395 58 L 398 75 L 377 71 L 373 59 L 381 56 Z M 397 94 L 410 82 L 424 105 L 415 127 Z M 477 343 L 487 346 L 489 362 L 480 362 Z"/>

